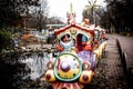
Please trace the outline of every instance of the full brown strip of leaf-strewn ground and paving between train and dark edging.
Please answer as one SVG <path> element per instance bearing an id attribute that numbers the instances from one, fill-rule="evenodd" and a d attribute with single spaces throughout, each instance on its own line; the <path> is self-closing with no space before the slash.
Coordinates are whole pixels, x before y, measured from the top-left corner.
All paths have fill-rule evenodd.
<path id="1" fill-rule="evenodd" d="M 84 89 L 127 89 L 117 48 L 117 36 L 106 34 L 105 56 L 99 60 L 92 82 Z"/>

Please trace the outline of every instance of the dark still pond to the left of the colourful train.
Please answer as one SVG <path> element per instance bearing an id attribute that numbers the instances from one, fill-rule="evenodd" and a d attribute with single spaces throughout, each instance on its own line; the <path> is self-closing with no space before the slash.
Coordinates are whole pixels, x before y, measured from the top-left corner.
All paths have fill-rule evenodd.
<path id="1" fill-rule="evenodd" d="M 1 53 L 0 88 L 48 89 L 51 85 L 39 78 L 44 75 L 48 60 L 53 59 L 53 52 Z"/>

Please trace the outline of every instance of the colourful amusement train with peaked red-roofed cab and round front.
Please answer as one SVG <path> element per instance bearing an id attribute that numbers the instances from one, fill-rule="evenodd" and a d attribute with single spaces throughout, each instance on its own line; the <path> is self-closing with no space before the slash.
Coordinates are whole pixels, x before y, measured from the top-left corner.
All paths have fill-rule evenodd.
<path id="1" fill-rule="evenodd" d="M 44 79 L 53 89 L 82 89 L 90 83 L 96 63 L 105 51 L 105 30 L 75 22 L 75 14 L 68 13 L 68 24 L 54 30 L 58 39 L 55 60 L 49 61 Z"/>

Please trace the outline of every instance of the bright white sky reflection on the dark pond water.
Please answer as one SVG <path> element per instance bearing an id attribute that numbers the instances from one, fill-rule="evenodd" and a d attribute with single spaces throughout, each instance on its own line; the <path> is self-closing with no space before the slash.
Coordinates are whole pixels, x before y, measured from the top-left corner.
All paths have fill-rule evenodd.
<path id="1" fill-rule="evenodd" d="M 22 63 L 25 63 L 25 70 L 30 69 L 30 72 L 28 76 L 23 77 L 30 77 L 31 79 L 35 80 L 40 76 L 44 73 L 47 70 L 47 62 L 49 60 L 53 60 L 52 52 L 40 52 L 40 53 L 32 53 L 23 55 L 20 57 L 20 60 Z"/>

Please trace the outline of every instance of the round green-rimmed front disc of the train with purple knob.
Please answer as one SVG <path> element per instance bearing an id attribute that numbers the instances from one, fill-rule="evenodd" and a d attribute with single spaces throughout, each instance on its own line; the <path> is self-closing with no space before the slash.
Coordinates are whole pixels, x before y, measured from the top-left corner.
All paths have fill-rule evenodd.
<path id="1" fill-rule="evenodd" d="M 73 81 L 78 79 L 82 71 L 82 65 L 79 58 L 72 53 L 61 53 L 53 67 L 57 79 L 61 81 Z"/>

